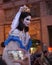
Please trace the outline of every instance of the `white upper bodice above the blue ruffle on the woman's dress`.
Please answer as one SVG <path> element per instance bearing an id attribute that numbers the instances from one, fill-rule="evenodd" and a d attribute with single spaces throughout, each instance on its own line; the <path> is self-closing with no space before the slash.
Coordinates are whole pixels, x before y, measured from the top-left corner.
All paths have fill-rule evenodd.
<path id="1" fill-rule="evenodd" d="M 30 39 L 28 32 L 25 33 L 24 31 L 20 31 L 18 29 L 15 29 L 12 33 L 10 33 L 10 35 L 18 36 L 24 46 L 26 46 L 28 44 L 28 41 Z"/>

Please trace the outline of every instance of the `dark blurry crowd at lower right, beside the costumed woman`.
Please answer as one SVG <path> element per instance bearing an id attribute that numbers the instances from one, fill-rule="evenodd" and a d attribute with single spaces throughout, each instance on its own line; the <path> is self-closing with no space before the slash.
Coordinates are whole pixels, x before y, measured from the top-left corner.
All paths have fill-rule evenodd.
<path id="1" fill-rule="evenodd" d="M 52 65 L 52 55 L 47 49 L 42 50 L 42 46 L 38 45 L 34 53 L 31 54 L 31 65 Z"/>

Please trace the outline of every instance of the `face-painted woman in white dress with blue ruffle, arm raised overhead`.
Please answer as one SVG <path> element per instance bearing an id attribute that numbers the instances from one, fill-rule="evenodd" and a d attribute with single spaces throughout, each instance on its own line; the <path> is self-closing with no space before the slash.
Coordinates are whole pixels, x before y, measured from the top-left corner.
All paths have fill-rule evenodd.
<path id="1" fill-rule="evenodd" d="M 30 65 L 29 49 L 32 45 L 32 41 L 28 33 L 30 20 L 30 9 L 27 6 L 20 7 L 11 24 L 9 36 L 5 41 L 5 48 L 2 58 L 6 61 L 7 65 Z M 7 53 L 8 50 L 23 51 L 24 59 L 10 59 Z"/>

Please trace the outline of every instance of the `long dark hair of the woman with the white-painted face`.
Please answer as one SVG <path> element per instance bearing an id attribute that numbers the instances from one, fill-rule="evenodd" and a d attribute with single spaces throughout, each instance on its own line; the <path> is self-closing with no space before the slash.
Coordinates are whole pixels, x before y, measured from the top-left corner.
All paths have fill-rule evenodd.
<path id="1" fill-rule="evenodd" d="M 23 20 L 25 17 L 27 16 L 31 16 L 30 13 L 28 12 L 22 12 L 21 15 L 20 15 L 20 18 L 19 18 L 19 25 L 18 27 L 16 27 L 17 29 L 19 29 L 20 31 L 22 31 L 24 29 L 25 32 L 27 32 L 29 30 L 29 27 L 26 27 L 24 24 L 23 24 Z"/>

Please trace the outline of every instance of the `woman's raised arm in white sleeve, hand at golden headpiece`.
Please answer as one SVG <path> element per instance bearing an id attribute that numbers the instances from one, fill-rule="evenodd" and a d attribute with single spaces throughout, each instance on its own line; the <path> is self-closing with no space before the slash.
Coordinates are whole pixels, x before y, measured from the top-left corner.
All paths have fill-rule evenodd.
<path id="1" fill-rule="evenodd" d="M 30 12 L 30 9 L 26 5 L 20 7 L 19 11 L 17 12 L 15 18 L 12 21 L 11 30 L 10 30 L 9 33 L 14 31 L 14 29 L 16 29 L 16 27 L 18 26 L 18 24 L 19 24 L 19 17 L 21 15 L 21 12 Z"/>

